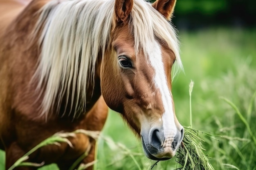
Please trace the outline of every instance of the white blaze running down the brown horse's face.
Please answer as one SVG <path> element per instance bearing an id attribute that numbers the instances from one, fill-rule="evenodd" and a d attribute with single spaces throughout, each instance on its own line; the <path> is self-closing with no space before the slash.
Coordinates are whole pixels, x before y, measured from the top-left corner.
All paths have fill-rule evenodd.
<path id="1" fill-rule="evenodd" d="M 150 63 L 155 69 L 155 86 L 159 88 L 162 96 L 162 103 L 164 106 L 164 114 L 162 116 L 164 135 L 165 137 L 173 137 L 177 133 L 177 128 L 174 121 L 173 99 L 171 91 L 167 85 L 164 63 L 162 61 L 161 46 L 157 41 L 152 42 L 151 44 L 152 46 L 147 50 L 147 53 Z"/>

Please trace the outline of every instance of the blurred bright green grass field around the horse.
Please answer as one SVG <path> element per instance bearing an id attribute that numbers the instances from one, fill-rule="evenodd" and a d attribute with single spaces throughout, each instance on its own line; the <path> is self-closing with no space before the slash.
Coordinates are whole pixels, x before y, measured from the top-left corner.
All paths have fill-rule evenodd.
<path id="1" fill-rule="evenodd" d="M 199 134 L 215 170 L 256 170 L 256 30 L 212 28 L 178 35 L 184 65 L 184 73 L 173 80 L 178 120 L 190 126 L 192 79 L 193 128 L 219 135 L 213 139 Z M 102 135 L 95 170 L 149 170 L 155 163 L 144 156 L 141 142 L 118 113 L 110 110 Z M 157 163 L 153 170 L 180 167 L 173 158 Z M 3 152 L 0 169 L 4 169 Z M 40 168 L 52 169 L 56 166 Z"/>

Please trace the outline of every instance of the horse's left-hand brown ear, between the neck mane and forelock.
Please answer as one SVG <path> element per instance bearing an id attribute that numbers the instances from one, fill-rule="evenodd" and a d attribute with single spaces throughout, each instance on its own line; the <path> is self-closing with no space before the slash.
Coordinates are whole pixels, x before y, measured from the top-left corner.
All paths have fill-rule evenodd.
<path id="1" fill-rule="evenodd" d="M 133 0 L 116 0 L 115 1 L 115 14 L 117 23 L 124 23 L 132 11 Z"/>

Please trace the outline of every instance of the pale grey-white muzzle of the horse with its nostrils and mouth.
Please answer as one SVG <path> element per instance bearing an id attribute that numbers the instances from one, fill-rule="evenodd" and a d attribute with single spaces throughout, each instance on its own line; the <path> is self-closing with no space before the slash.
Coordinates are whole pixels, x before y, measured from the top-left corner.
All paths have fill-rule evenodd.
<path id="1" fill-rule="evenodd" d="M 146 131 L 141 132 L 141 141 L 146 157 L 163 161 L 175 156 L 183 139 L 183 127 L 181 130 L 168 130 L 167 133 L 163 128 L 156 127 L 151 128 L 149 132 Z"/>

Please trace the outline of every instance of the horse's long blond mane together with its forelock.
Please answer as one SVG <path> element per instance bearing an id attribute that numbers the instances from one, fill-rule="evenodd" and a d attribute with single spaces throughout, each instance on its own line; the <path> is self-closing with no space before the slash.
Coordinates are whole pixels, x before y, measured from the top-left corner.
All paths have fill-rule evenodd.
<path id="1" fill-rule="evenodd" d="M 150 3 L 134 1 L 129 24 L 135 51 L 146 51 L 157 37 L 173 50 L 177 68 L 182 68 L 173 26 Z M 38 87 L 45 88 L 42 115 L 46 118 L 53 105 L 60 107 L 64 95 L 75 107 L 71 116 L 78 116 L 78 110 L 85 112 L 86 89 L 93 83 L 90 77 L 99 51 L 104 57 L 110 46 L 114 4 L 115 0 L 52 0 L 41 9 L 36 24 L 36 31 L 43 28 L 41 54 L 34 77 L 39 77 Z"/>

